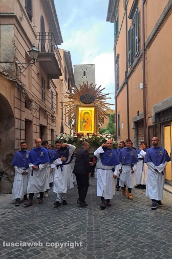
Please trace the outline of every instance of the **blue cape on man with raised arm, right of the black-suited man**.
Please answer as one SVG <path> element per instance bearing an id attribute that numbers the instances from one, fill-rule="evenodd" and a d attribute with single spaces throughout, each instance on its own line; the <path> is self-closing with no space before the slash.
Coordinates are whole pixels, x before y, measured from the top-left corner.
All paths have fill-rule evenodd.
<path id="1" fill-rule="evenodd" d="M 113 149 L 104 150 L 104 153 L 100 154 L 100 159 L 102 164 L 109 165 L 109 167 L 113 167 L 113 165 L 120 163 L 118 155 Z"/>

